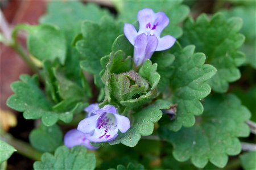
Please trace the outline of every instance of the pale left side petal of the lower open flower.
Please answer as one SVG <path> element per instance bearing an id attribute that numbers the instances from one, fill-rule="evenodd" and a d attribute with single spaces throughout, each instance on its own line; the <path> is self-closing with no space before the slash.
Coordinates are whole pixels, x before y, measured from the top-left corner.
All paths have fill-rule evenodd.
<path id="1" fill-rule="evenodd" d="M 79 122 L 79 125 L 77 126 L 77 130 L 81 131 L 85 134 L 91 134 L 97 127 L 97 119 L 101 115 L 94 115 L 91 117 L 86 117 L 84 120 L 81 120 Z"/>

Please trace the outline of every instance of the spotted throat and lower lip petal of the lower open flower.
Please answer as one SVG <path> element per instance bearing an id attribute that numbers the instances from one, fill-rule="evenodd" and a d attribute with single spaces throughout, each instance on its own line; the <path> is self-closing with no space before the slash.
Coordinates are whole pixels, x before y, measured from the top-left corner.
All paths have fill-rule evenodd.
<path id="1" fill-rule="evenodd" d="M 104 113 L 97 120 L 97 128 L 87 137 L 91 142 L 111 141 L 118 135 L 118 128 L 114 114 Z"/>

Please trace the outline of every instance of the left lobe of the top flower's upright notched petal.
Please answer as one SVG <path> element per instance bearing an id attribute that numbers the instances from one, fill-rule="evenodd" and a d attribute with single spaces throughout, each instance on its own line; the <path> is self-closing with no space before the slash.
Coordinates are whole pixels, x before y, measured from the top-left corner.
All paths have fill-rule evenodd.
<path id="1" fill-rule="evenodd" d="M 154 23 L 154 16 L 155 12 L 150 8 L 144 8 L 138 12 L 139 34 L 148 31 L 148 23 L 150 23 L 150 27 L 152 27 L 151 24 Z"/>

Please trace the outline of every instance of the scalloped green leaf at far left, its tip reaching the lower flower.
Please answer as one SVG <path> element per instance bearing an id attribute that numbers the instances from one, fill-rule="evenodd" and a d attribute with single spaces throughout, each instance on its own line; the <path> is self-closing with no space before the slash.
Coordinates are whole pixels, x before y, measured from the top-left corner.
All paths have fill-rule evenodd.
<path id="1" fill-rule="evenodd" d="M 53 112 L 53 104 L 46 99 L 46 96 L 39 88 L 37 76 L 21 75 L 21 82 L 11 84 L 14 95 L 7 100 L 7 105 L 15 111 L 24 112 L 23 117 L 26 119 L 39 119 L 46 126 L 54 125 L 57 120 L 65 123 L 71 122 L 73 114 L 82 111 L 83 103 L 77 103 L 72 111 Z"/>

